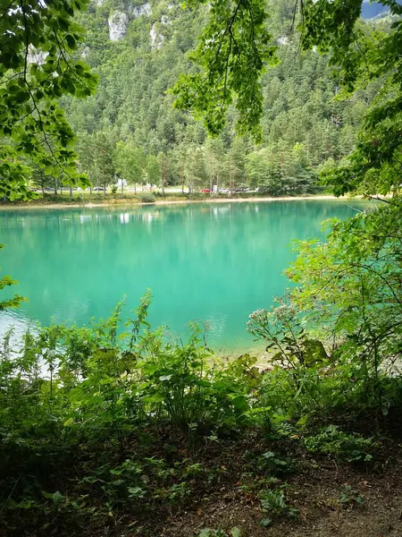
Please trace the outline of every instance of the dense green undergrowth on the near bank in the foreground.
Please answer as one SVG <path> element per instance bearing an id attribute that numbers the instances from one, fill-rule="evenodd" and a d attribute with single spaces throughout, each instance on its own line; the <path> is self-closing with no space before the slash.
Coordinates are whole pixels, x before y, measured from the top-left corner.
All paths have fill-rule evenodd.
<path id="1" fill-rule="evenodd" d="M 230 482 L 260 502 L 268 526 L 297 516 L 285 494 L 298 471 L 289 446 L 360 465 L 375 458 L 373 434 L 331 424 L 350 397 L 375 405 L 363 399 L 369 381 L 348 378 L 350 364 L 261 372 L 248 354 L 219 360 L 197 326 L 185 343 L 152 330 L 149 305 L 146 294 L 126 322 L 120 303 L 107 320 L 40 328 L 17 347 L 12 332 L 4 337 L 1 535 L 113 534 L 123 520 L 152 535 L 155 513 L 163 519 Z M 359 500 L 346 491 L 340 501 Z"/>

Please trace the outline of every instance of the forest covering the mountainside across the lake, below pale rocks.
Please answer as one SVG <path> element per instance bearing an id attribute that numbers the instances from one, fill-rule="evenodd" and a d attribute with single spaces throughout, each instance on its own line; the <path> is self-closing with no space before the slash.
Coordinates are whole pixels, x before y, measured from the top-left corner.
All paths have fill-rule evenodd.
<path id="1" fill-rule="evenodd" d="M 181 72 L 188 72 L 188 51 L 195 46 L 205 10 L 188 12 L 158 3 L 130 13 L 119 3 L 90 4 L 78 19 L 87 29 L 78 57 L 99 74 L 100 83 L 92 97 L 61 100 L 78 136 L 80 171 L 94 187 L 104 188 L 120 178 L 129 188 L 182 185 L 186 192 L 213 190 L 214 184 L 218 190 L 258 188 L 273 196 L 320 192 L 319 173 L 348 157 L 380 82 L 338 98 L 339 76 L 328 56 L 316 50 L 297 54 L 293 4 L 284 0 L 267 8 L 281 63 L 264 74 L 262 139 L 257 144 L 249 135 L 236 136 L 234 107 L 227 126 L 213 139 L 187 111 L 172 107 L 169 90 Z M 117 40 L 109 38 L 110 13 L 128 13 L 127 28 Z M 389 18 L 364 24 L 386 30 Z M 149 28 L 157 29 L 154 44 Z M 58 192 L 62 183 L 34 169 L 31 185 L 39 192 Z"/>

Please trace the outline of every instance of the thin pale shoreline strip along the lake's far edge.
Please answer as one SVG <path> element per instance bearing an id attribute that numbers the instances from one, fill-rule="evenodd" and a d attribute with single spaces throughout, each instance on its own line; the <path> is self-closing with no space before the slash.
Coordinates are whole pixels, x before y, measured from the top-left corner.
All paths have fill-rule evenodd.
<path id="1" fill-rule="evenodd" d="M 319 194 L 317 196 L 280 196 L 277 198 L 264 196 L 264 198 L 206 198 L 205 200 L 155 200 L 152 202 L 141 203 L 135 202 L 130 203 L 130 200 L 108 200 L 102 203 L 93 203 L 89 201 L 88 203 L 19 203 L 16 205 L 2 205 L 0 204 L 0 210 L 16 210 L 16 209 L 99 209 L 103 207 L 107 208 L 135 208 L 143 207 L 149 205 L 187 205 L 193 203 L 249 203 L 249 202 L 272 202 L 272 201 L 301 201 L 301 200 L 362 200 L 361 196 L 342 196 L 337 198 L 332 194 Z"/>

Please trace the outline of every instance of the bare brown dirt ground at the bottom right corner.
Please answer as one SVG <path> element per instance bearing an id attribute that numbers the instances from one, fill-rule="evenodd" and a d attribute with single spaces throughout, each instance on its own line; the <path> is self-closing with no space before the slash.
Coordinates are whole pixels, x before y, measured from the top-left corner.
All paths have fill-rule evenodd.
<path id="1" fill-rule="evenodd" d="M 185 510 L 167 516 L 163 522 L 141 526 L 135 520 L 121 520 L 119 537 L 193 537 L 205 528 L 241 530 L 241 537 L 402 537 L 402 449 L 371 468 L 339 464 L 310 454 L 297 460 L 297 472 L 283 479 L 286 499 L 296 507 L 294 520 L 277 518 L 272 527 L 260 525 L 265 516 L 253 494 L 239 487 L 241 469 L 233 453 L 224 454 L 229 478 L 207 497 Z M 224 459 L 227 459 L 226 461 Z M 238 461 L 239 462 L 239 461 Z M 344 505 L 340 496 L 345 485 L 356 490 L 362 505 Z M 158 514 L 155 513 L 155 519 Z"/>

